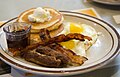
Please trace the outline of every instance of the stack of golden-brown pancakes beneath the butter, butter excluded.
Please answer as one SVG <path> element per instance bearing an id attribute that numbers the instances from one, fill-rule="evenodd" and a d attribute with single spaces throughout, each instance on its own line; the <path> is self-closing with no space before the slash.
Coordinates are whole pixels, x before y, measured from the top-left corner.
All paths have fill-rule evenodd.
<path id="1" fill-rule="evenodd" d="M 34 39 L 35 41 L 39 40 L 38 34 L 39 34 L 39 30 L 42 28 L 47 28 L 50 31 L 51 37 L 56 36 L 58 33 L 60 33 L 64 29 L 62 25 L 64 20 L 63 15 L 59 11 L 50 7 L 43 8 L 45 10 L 48 10 L 50 12 L 50 15 L 52 16 L 52 18 L 49 21 L 45 21 L 43 23 L 29 21 L 28 16 L 33 14 L 35 9 L 36 8 L 31 8 L 24 11 L 18 16 L 18 19 L 17 19 L 18 22 L 26 22 L 32 25 L 31 27 L 32 39 Z"/>

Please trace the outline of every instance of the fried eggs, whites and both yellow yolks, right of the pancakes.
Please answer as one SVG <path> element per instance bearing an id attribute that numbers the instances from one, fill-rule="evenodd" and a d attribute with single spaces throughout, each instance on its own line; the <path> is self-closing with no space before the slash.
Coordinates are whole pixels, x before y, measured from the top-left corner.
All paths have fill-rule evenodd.
<path id="1" fill-rule="evenodd" d="M 77 24 L 73 22 L 64 23 L 64 30 L 60 34 L 80 33 L 92 38 L 91 41 L 70 40 L 60 44 L 67 49 L 74 51 L 77 55 L 87 56 L 86 51 L 96 42 L 98 36 L 93 27 L 87 24 Z"/>

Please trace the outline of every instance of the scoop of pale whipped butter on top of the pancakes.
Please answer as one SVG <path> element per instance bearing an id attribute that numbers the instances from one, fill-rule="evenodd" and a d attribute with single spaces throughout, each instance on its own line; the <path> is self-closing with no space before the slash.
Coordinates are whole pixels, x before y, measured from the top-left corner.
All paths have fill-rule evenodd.
<path id="1" fill-rule="evenodd" d="M 38 7 L 34 10 L 33 14 L 28 16 L 29 21 L 31 22 L 45 22 L 49 21 L 52 18 L 50 12 L 41 7 Z"/>

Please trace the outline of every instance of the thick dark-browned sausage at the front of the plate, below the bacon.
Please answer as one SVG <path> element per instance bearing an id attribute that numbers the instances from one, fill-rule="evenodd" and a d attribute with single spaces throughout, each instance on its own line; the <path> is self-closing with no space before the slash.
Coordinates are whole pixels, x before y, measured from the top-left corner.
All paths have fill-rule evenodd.
<path id="1" fill-rule="evenodd" d="M 47 67 L 59 67 L 61 64 L 61 60 L 56 59 L 55 56 L 40 54 L 35 50 L 24 52 L 22 58 L 24 58 L 27 61 L 34 62 L 36 64 Z"/>

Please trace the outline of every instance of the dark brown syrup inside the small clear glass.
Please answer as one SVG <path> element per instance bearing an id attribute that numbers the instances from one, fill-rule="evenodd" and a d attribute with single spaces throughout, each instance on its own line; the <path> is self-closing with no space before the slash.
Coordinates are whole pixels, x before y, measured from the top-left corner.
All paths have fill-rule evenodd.
<path id="1" fill-rule="evenodd" d="M 12 33 L 19 34 L 19 32 L 23 32 L 23 31 L 24 30 L 12 32 Z M 30 36 L 30 34 L 26 34 L 26 35 L 22 35 L 22 36 L 15 36 L 15 37 L 7 36 L 8 48 L 14 48 L 17 50 L 21 50 L 21 49 L 25 48 L 26 46 L 29 45 L 29 42 L 30 42 L 29 36 Z"/>

